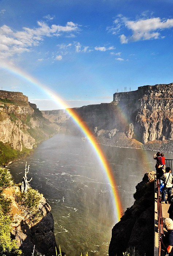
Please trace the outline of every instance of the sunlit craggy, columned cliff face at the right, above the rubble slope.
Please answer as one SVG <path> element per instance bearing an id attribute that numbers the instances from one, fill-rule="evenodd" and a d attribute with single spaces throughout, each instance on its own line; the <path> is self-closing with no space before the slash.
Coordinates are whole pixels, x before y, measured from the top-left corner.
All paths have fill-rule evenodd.
<path id="1" fill-rule="evenodd" d="M 173 83 L 115 93 L 113 102 L 123 113 L 128 113 L 128 138 L 136 138 L 144 144 L 155 139 L 173 139 Z"/>

